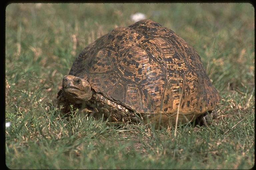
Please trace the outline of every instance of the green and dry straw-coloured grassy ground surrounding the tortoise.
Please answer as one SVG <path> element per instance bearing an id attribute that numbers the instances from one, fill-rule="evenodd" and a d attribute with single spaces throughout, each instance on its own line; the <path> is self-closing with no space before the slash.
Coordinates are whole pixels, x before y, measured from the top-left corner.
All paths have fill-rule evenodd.
<path id="1" fill-rule="evenodd" d="M 141 12 L 200 54 L 222 100 L 210 128 L 114 127 L 58 116 L 75 57 Z M 11 4 L 6 8 L 6 165 L 12 169 L 248 169 L 255 162 L 250 4 Z M 75 113 L 74 113 L 75 114 Z"/>

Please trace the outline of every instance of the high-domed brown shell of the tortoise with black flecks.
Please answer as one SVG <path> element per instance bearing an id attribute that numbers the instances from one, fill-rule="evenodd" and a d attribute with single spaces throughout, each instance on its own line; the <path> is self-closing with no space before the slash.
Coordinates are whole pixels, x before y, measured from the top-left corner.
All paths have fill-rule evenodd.
<path id="1" fill-rule="evenodd" d="M 100 37 L 83 49 L 69 74 L 111 101 L 154 114 L 152 119 L 176 119 L 178 107 L 179 119 L 194 119 L 220 100 L 197 51 L 152 20 Z"/>

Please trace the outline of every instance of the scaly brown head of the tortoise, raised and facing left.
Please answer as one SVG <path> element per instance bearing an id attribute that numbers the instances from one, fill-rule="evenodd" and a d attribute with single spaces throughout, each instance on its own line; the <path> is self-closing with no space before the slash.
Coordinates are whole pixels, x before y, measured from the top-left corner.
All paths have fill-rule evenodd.
<path id="1" fill-rule="evenodd" d="M 62 92 L 73 103 L 85 103 L 92 98 L 92 88 L 83 78 L 66 75 L 62 80 Z"/>

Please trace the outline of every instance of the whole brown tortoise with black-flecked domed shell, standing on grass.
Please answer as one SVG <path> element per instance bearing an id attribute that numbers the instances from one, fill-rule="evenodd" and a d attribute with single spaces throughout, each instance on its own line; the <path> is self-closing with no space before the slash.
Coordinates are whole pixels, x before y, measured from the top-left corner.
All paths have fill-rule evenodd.
<path id="1" fill-rule="evenodd" d="M 220 96 L 197 51 L 152 20 L 89 44 L 64 76 L 57 105 L 109 122 L 173 126 L 209 118 Z M 205 124 L 205 121 L 204 121 Z"/>

